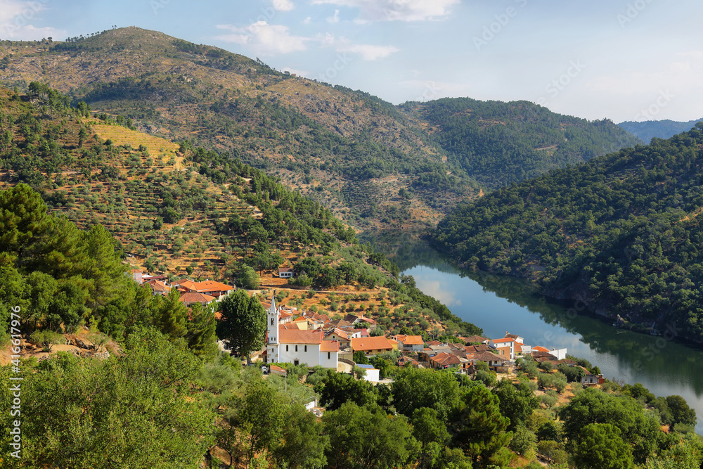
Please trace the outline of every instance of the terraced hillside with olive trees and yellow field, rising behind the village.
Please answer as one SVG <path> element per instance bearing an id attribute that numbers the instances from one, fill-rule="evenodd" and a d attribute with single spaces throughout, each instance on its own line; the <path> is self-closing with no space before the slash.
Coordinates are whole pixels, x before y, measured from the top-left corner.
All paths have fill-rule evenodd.
<path id="1" fill-rule="evenodd" d="M 284 294 L 284 304 L 365 311 L 385 330 L 479 330 L 398 278 L 330 210 L 259 169 L 86 117 L 40 84 L 30 89 L 0 88 L 0 189 L 28 184 L 50 215 L 83 230 L 104 226 L 133 268 L 264 285 Z M 280 282 L 279 266 L 307 276 Z"/>

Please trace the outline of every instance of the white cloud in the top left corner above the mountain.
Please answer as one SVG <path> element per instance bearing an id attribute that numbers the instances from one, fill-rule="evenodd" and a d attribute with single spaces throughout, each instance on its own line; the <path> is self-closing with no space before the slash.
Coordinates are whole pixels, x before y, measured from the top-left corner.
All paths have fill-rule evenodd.
<path id="1" fill-rule="evenodd" d="M 54 27 L 34 27 L 31 24 L 41 11 L 46 10 L 43 3 L 0 0 L 0 37 L 15 41 L 30 41 L 43 37 L 63 39 L 65 30 Z"/>

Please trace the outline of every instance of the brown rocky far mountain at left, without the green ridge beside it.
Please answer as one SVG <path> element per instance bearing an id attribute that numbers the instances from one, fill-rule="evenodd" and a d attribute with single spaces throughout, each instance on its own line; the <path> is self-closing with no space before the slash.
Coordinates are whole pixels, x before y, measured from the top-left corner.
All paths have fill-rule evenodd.
<path id="1" fill-rule="evenodd" d="M 477 193 L 446 176 L 440 148 L 394 106 L 359 91 L 285 75 L 243 56 L 128 27 L 60 44 L 0 43 L 9 86 L 37 80 L 171 141 L 229 151 L 354 226 L 434 224 Z M 401 197 L 418 176 L 437 191 Z"/>

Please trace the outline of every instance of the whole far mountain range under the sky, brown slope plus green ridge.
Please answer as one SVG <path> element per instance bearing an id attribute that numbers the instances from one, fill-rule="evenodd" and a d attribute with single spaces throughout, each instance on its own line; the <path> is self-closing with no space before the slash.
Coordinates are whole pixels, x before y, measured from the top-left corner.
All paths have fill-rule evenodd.
<path id="1" fill-rule="evenodd" d="M 634 142 L 610 122 L 525 103 L 394 106 L 136 27 L 63 43 L 0 41 L 0 57 L 9 86 L 41 81 L 141 131 L 228 151 L 357 230 L 425 229 L 482 188 Z M 474 110 L 466 122 L 465 103 Z"/>

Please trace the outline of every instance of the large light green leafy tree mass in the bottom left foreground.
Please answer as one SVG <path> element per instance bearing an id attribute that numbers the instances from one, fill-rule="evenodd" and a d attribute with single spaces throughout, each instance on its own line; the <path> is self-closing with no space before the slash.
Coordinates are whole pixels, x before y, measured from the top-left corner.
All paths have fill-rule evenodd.
<path id="1" fill-rule="evenodd" d="M 188 396 L 199 368 L 153 331 L 131 335 L 120 359 L 43 361 L 22 382 L 15 467 L 195 467 L 213 442 L 212 413 Z"/>

